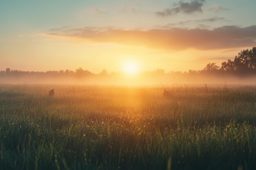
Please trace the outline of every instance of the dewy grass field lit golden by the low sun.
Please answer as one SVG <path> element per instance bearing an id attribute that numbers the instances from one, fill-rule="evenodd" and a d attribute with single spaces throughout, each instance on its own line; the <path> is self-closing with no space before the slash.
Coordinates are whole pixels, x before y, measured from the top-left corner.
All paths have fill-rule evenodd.
<path id="1" fill-rule="evenodd" d="M 255 86 L 167 89 L 0 85 L 0 169 L 255 170 Z"/>

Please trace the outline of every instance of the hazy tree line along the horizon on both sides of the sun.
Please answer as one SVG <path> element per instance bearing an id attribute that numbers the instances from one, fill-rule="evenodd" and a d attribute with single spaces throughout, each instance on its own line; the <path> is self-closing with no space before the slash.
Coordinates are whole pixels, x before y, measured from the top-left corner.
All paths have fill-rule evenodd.
<path id="1" fill-rule="evenodd" d="M 163 69 L 157 69 L 155 71 L 142 72 L 142 75 L 205 75 L 205 74 L 215 74 L 215 75 L 238 75 L 238 76 L 250 76 L 256 75 L 256 47 L 252 49 L 246 49 L 238 53 L 234 60 L 227 60 L 227 62 L 222 62 L 221 66 L 217 66 L 216 63 L 209 63 L 202 70 L 189 70 L 189 72 L 169 72 L 165 73 Z M 35 71 L 18 71 L 6 68 L 5 71 L 0 71 L 0 77 L 22 77 L 22 76 L 43 76 L 43 77 L 107 77 L 116 76 L 119 73 L 108 73 L 106 69 L 101 71 L 99 74 L 92 73 L 88 70 L 83 70 L 83 68 L 78 68 L 75 71 L 71 70 L 60 70 L 60 71 L 46 71 L 46 72 L 35 72 Z"/>

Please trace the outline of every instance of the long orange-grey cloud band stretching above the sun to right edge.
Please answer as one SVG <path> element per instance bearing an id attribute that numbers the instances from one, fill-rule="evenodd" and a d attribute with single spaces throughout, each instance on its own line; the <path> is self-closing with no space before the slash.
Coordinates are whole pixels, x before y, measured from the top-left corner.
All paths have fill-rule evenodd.
<path id="1" fill-rule="evenodd" d="M 99 43 L 145 46 L 163 50 L 215 50 L 256 45 L 256 25 L 248 27 L 222 26 L 216 29 L 150 29 L 123 30 L 113 28 L 70 29 L 49 33 L 53 36 L 81 38 Z"/>

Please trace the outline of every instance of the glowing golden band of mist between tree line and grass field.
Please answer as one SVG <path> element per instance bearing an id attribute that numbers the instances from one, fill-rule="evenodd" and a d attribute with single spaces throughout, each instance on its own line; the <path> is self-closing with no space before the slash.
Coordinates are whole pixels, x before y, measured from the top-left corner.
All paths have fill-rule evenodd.
<path id="1" fill-rule="evenodd" d="M 80 69 L 81 71 L 81 69 Z M 89 71 L 0 72 L 1 84 L 97 84 L 117 86 L 168 86 L 175 84 L 256 84 L 255 74 L 234 74 L 223 71 L 169 72 L 162 69 L 128 75 L 106 71 L 94 74 Z"/>

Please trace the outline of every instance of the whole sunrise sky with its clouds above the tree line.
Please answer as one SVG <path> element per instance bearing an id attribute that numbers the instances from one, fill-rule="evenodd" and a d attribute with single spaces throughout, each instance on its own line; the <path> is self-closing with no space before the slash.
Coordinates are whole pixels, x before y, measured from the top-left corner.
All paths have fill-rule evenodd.
<path id="1" fill-rule="evenodd" d="M 255 0 L 0 0 L 0 70 L 201 70 L 256 45 Z"/>

